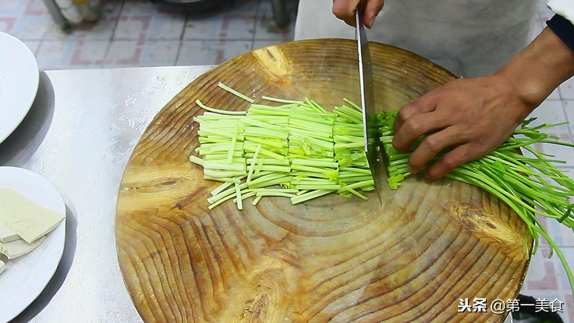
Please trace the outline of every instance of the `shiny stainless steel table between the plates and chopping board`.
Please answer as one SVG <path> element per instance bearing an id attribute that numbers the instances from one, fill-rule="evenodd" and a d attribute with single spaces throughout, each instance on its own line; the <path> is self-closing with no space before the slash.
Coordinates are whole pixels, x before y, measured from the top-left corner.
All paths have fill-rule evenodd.
<path id="1" fill-rule="evenodd" d="M 46 71 L 30 113 L 0 144 L 0 166 L 50 180 L 67 237 L 56 275 L 13 322 L 141 322 L 119 270 L 116 195 L 132 149 L 156 113 L 209 66 Z"/>

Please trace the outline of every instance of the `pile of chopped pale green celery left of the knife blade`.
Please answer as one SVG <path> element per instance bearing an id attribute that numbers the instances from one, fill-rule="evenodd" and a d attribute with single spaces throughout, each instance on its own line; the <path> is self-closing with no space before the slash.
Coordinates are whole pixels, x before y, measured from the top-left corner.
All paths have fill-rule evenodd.
<path id="1" fill-rule="evenodd" d="M 247 111 L 207 110 L 199 122 L 199 143 L 189 160 L 203 166 L 204 179 L 223 182 L 207 199 L 209 209 L 232 200 L 243 209 L 253 197 L 286 197 L 293 204 L 336 192 L 344 197 L 374 189 L 364 153 L 362 112 L 347 105 L 329 112 L 315 101 L 262 97 L 253 99 L 219 83 L 222 89 L 251 103 Z"/>

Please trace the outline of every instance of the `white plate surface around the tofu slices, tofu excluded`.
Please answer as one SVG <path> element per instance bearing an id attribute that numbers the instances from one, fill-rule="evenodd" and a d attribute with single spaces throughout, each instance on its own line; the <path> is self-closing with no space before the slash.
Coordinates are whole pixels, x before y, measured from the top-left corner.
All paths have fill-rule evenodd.
<path id="1" fill-rule="evenodd" d="M 30 201 L 66 212 L 64 200 L 48 180 L 17 167 L 0 167 L 0 189 L 10 187 Z M 64 252 L 65 220 L 46 235 L 46 240 L 27 255 L 8 260 L 0 274 L 0 322 L 20 314 L 52 279 Z"/>

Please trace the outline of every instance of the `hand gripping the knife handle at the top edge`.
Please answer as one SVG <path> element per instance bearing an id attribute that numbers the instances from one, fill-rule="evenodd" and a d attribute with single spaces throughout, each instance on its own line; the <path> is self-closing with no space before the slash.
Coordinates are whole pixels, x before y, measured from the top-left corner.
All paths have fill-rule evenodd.
<path id="1" fill-rule="evenodd" d="M 385 0 L 333 0 L 333 14 L 347 25 L 355 26 L 355 10 L 358 6 L 362 6 L 363 24 L 371 28 L 384 5 Z"/>

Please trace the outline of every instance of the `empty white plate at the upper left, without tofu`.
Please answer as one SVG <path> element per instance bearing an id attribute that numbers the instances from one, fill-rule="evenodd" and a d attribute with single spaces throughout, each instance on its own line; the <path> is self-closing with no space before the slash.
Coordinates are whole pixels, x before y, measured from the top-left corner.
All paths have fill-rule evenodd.
<path id="1" fill-rule="evenodd" d="M 0 143 L 24 120 L 36 93 L 40 72 L 26 44 L 0 32 Z"/>

